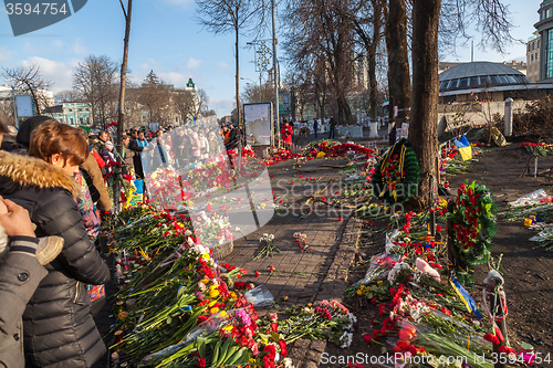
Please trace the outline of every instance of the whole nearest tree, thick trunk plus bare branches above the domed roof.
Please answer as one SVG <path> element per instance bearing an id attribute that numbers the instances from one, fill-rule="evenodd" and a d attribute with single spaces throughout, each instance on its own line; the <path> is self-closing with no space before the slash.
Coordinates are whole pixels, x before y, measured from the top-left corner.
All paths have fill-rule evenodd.
<path id="1" fill-rule="evenodd" d="M 507 8 L 500 0 L 446 0 L 446 4 L 456 6 L 458 23 L 452 34 L 466 30 L 465 17 L 469 9 L 478 7 L 472 14 L 479 20 L 482 43 L 492 44 L 502 50 L 510 42 L 510 23 Z M 455 2 L 452 2 L 455 1 Z M 452 8 L 448 8 L 451 10 Z M 420 164 L 420 186 L 418 203 L 428 203 L 428 190 L 432 177 L 436 177 L 438 156 L 438 27 L 441 0 L 413 1 L 413 102 L 409 125 L 409 140 Z M 459 31 L 460 30 L 460 31 Z M 505 33 L 507 32 L 507 33 Z M 405 41 L 405 44 L 407 41 Z"/>

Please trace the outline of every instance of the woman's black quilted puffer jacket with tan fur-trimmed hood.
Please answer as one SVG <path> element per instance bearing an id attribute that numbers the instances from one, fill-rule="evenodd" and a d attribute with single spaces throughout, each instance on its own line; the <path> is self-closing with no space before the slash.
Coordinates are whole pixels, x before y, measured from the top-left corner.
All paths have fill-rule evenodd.
<path id="1" fill-rule="evenodd" d="M 27 367 L 92 367 L 106 348 L 85 284 L 106 283 L 109 270 L 86 234 L 76 181 L 42 160 L 0 151 L 0 192 L 29 211 L 38 236 L 64 239 L 23 314 Z"/>

